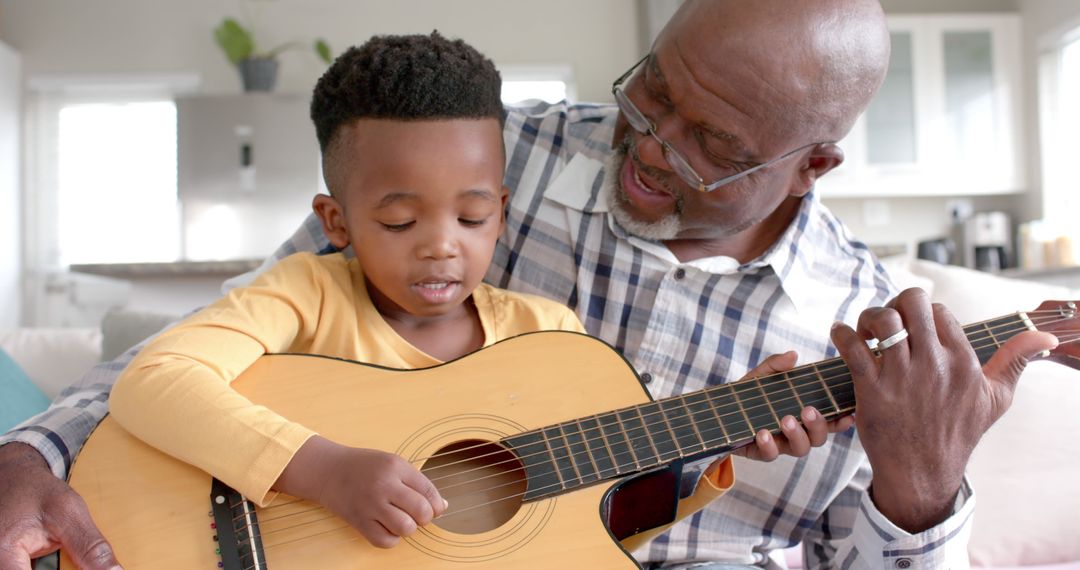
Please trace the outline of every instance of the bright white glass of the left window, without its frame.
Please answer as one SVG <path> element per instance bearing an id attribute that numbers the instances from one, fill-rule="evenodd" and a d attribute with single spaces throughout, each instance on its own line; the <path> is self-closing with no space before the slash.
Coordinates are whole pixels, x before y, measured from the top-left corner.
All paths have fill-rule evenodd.
<path id="1" fill-rule="evenodd" d="M 72 103 L 57 116 L 58 264 L 175 260 L 176 105 Z"/>

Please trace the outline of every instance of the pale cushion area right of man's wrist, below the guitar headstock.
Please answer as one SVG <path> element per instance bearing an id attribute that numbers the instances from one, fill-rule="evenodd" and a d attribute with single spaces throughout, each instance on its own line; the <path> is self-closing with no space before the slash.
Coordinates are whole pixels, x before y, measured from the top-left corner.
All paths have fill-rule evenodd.
<path id="1" fill-rule="evenodd" d="M 975 489 L 971 561 L 1020 566 L 1080 560 L 1080 371 L 1034 362 L 1012 407 L 968 463 Z"/>

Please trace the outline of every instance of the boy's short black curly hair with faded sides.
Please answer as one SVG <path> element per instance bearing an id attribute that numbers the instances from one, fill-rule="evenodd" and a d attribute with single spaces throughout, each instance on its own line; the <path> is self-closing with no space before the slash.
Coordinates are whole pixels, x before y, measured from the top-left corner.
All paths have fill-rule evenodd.
<path id="1" fill-rule="evenodd" d="M 357 119 L 503 120 L 495 64 L 461 40 L 431 35 L 376 36 L 350 48 L 315 84 L 311 120 L 323 159 Z"/>

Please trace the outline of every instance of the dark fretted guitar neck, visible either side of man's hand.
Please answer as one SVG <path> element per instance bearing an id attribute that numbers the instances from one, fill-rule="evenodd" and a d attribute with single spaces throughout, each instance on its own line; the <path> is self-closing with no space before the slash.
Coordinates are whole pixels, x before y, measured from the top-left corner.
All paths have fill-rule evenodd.
<path id="1" fill-rule="evenodd" d="M 1021 312 L 968 325 L 964 334 L 985 363 L 1007 340 L 1034 328 Z M 502 443 L 525 466 L 526 500 L 536 500 L 738 449 L 760 430 L 779 432 L 781 418 L 798 418 L 806 406 L 826 419 L 854 411 L 851 371 L 841 358 L 578 418 Z"/>

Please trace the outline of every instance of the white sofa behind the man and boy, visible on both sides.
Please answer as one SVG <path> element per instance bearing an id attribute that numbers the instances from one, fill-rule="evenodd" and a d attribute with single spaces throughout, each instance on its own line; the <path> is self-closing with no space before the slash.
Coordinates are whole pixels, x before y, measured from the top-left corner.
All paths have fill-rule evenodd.
<path id="1" fill-rule="evenodd" d="M 961 323 L 1017 310 L 1076 291 L 918 260 L 887 260 L 901 287 L 920 286 Z M 0 347 L 50 396 L 102 356 L 111 356 L 161 327 L 160 315 L 116 314 L 96 329 L 0 332 Z M 63 355 L 58 358 L 57 355 Z M 977 567 L 1080 570 L 1080 371 L 1032 363 L 1012 409 L 975 450 L 970 478 L 978 507 L 971 539 Z M 792 554 L 791 552 L 788 554 Z M 797 556 L 788 556 L 798 566 Z"/>

